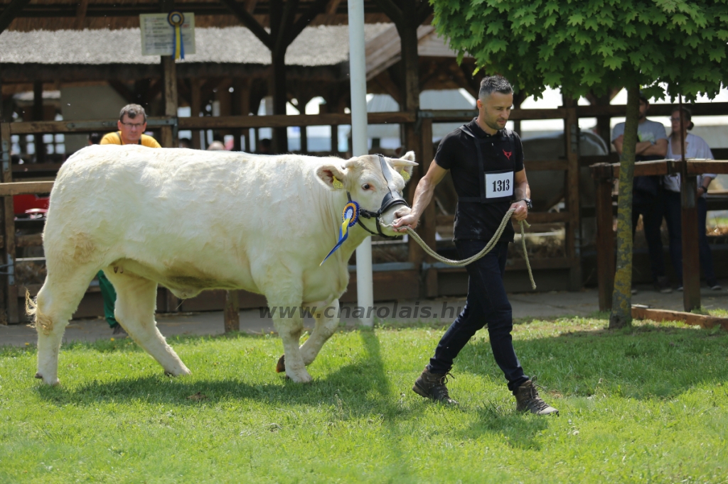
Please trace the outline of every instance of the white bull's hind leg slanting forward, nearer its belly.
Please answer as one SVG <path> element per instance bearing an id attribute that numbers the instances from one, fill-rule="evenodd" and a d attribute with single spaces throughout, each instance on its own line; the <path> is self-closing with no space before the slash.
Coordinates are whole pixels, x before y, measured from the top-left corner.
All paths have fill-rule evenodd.
<path id="1" fill-rule="evenodd" d="M 116 289 L 114 317 L 119 324 L 165 368 L 166 374 L 189 375 L 189 369 L 157 329 L 157 321 L 154 320 L 157 283 L 128 272 L 114 273 L 113 270 L 104 270 L 104 273 Z"/>

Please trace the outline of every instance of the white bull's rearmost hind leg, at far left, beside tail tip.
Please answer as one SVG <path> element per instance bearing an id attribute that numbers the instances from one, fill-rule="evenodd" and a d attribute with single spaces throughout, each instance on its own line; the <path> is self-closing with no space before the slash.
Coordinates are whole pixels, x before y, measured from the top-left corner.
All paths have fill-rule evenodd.
<path id="1" fill-rule="evenodd" d="M 38 372 L 44 383 L 58 384 L 58 352 L 68 320 L 84 297 L 96 273 L 95 267 L 63 267 L 52 263 L 35 301 L 28 298 L 25 309 L 38 331 Z"/>

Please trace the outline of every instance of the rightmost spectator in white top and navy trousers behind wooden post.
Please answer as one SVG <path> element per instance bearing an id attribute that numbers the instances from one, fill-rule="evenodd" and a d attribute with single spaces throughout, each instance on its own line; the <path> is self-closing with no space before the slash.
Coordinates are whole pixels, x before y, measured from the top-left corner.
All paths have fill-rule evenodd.
<path id="1" fill-rule="evenodd" d="M 700 136 L 688 133 L 692 129 L 692 114 L 686 108 L 683 111 L 683 126 L 685 138 L 685 158 L 703 158 L 707 160 L 713 159 L 711 148 L 708 143 Z M 680 144 L 680 108 L 673 110 L 670 116 L 673 131 L 670 133 L 668 142 L 668 159 L 679 160 L 682 158 L 682 148 Z M 713 254 L 711 254 L 711 246 L 708 245 L 708 237 L 705 235 L 705 218 L 708 214 L 708 208 L 705 204 L 705 194 L 708 193 L 708 185 L 711 184 L 716 175 L 705 173 L 697 177 L 697 237 L 698 247 L 700 249 L 700 265 L 703 267 L 705 282 L 708 286 L 720 291 L 721 286 L 716 281 L 716 274 L 713 270 Z M 680 175 L 665 175 L 664 196 L 665 196 L 665 219 L 668 222 L 668 232 L 670 233 L 670 258 L 673 261 L 673 268 L 678 276 L 678 290 L 682 290 L 682 233 L 681 233 L 681 203 L 680 203 Z"/>

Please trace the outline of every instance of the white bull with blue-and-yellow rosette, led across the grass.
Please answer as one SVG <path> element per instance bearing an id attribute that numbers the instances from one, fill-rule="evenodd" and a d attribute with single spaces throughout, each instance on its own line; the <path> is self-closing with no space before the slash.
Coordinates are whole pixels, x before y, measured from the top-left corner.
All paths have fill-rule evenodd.
<path id="1" fill-rule="evenodd" d="M 174 376 L 190 371 L 157 330 L 157 284 L 180 298 L 245 289 L 264 294 L 271 307 L 317 306 L 314 331 L 301 347 L 300 311 L 274 316 L 285 373 L 311 381 L 306 365 L 338 326 L 347 262 L 369 235 L 355 225 L 320 266 L 338 240 L 347 192 L 363 209 L 378 211 L 390 189 L 402 192 L 402 174 L 408 179 L 416 166 L 414 153 L 387 158 L 384 166 L 389 182 L 376 156 L 344 161 L 133 145 L 74 154 L 50 196 L 43 233 L 48 275 L 36 300 L 28 301 L 38 331 L 36 378 L 58 384 L 63 331 L 103 270 L 116 289 L 116 319 Z M 397 208 L 403 207 L 389 209 L 381 222 L 391 224 Z M 376 231 L 373 219 L 363 223 Z"/>

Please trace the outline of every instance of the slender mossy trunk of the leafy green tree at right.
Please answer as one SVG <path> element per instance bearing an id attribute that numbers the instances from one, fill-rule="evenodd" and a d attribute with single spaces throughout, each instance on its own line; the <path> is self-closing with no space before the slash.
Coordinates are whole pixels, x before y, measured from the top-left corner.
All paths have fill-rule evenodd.
<path id="1" fill-rule="evenodd" d="M 620 156 L 620 196 L 617 202 L 617 273 L 614 275 L 612 314 L 609 328 L 632 323 L 632 180 L 635 169 L 637 124 L 639 121 L 639 86 L 627 89 L 622 156 Z"/>

